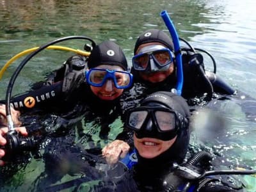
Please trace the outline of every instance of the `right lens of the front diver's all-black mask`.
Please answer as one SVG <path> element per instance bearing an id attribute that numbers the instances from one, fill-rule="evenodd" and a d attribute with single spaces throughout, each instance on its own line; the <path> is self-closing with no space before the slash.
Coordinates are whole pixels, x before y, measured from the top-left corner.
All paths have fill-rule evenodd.
<path id="1" fill-rule="evenodd" d="M 161 131 L 172 131 L 176 126 L 175 113 L 167 111 L 155 111 L 157 125 Z"/>

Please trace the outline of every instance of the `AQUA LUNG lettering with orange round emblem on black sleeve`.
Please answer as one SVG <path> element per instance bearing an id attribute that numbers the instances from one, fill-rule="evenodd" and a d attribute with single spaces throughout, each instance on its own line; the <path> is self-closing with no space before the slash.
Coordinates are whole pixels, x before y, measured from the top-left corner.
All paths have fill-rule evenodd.
<path id="1" fill-rule="evenodd" d="M 15 108 L 24 108 L 24 107 L 33 108 L 35 106 L 36 102 L 42 102 L 43 100 L 51 99 L 52 97 L 55 97 L 54 91 L 47 92 L 42 95 L 38 95 L 36 97 L 28 96 L 23 101 L 20 100 L 17 102 L 13 102 L 12 105 Z"/>

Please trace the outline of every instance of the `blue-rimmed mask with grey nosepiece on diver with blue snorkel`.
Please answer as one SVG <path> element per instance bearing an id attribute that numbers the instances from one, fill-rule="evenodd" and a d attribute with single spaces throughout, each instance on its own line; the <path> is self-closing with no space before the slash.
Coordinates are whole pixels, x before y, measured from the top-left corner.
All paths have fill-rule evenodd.
<path id="1" fill-rule="evenodd" d="M 163 45 L 148 45 L 132 57 L 134 70 L 145 72 L 166 71 L 175 58 L 170 49 Z"/>

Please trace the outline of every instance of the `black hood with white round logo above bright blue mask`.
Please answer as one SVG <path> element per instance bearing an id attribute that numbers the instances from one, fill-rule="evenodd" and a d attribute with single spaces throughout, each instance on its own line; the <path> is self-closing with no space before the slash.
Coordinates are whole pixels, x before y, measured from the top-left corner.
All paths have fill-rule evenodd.
<path id="1" fill-rule="evenodd" d="M 88 68 L 94 68 L 103 64 L 118 65 L 126 71 L 128 68 L 122 49 L 115 42 L 109 40 L 96 45 L 88 58 Z"/>

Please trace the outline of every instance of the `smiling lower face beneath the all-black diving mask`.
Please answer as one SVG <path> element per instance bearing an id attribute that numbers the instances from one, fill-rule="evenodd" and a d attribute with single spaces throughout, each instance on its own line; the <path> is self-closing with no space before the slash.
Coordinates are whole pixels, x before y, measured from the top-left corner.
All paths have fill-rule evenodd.
<path id="1" fill-rule="evenodd" d="M 177 136 L 175 136 L 175 138 L 173 138 L 172 140 L 163 141 L 155 138 L 139 139 L 136 137 L 135 134 L 133 136 L 134 146 L 138 150 L 140 156 L 146 159 L 152 159 L 154 157 L 157 157 L 166 150 L 168 150 L 168 148 L 172 147 L 176 138 Z"/>

